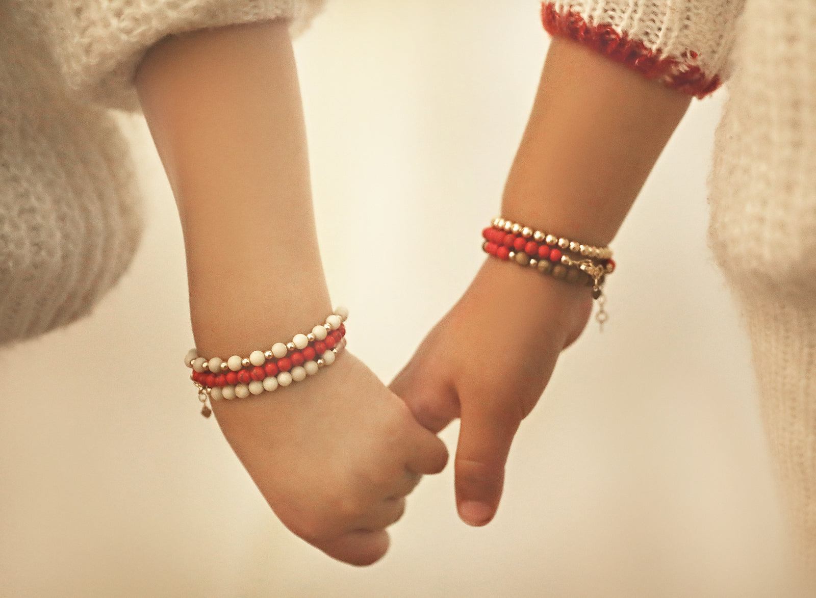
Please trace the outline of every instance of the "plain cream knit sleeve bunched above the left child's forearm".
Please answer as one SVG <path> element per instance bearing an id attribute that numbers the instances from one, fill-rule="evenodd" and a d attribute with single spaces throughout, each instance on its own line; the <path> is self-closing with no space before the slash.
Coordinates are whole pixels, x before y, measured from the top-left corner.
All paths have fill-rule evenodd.
<path id="1" fill-rule="evenodd" d="M 132 86 L 144 52 L 172 33 L 290 19 L 304 29 L 325 0 L 12 0 L 79 100 L 139 111 Z"/>

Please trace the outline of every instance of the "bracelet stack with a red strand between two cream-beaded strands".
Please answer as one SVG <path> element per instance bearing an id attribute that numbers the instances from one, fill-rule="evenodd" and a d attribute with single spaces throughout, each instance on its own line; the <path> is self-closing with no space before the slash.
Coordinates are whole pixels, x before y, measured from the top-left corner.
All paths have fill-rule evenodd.
<path id="1" fill-rule="evenodd" d="M 220 357 L 198 357 L 193 348 L 184 357 L 184 365 L 193 370 L 191 379 L 202 402 L 202 415 L 210 417 L 212 410 L 206 401 L 244 399 L 278 387 L 300 382 L 313 376 L 335 358 L 346 346 L 346 308 L 336 308 L 307 334 L 295 334 L 288 343 L 275 343 L 265 351 L 253 351 L 249 357 L 233 355 L 226 361 Z"/>

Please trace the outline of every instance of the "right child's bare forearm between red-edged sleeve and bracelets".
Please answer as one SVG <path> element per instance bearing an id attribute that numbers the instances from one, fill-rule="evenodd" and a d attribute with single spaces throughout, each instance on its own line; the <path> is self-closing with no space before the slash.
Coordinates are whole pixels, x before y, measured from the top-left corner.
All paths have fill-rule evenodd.
<path id="1" fill-rule="evenodd" d="M 502 214 L 606 245 L 690 97 L 565 38 L 553 38 Z"/>

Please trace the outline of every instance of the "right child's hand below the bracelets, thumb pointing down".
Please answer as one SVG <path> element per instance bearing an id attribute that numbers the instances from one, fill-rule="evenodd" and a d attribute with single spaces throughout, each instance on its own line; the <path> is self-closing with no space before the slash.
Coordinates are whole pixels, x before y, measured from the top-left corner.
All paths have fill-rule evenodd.
<path id="1" fill-rule="evenodd" d="M 391 383 L 428 430 L 461 418 L 456 503 L 465 523 L 493 518 L 521 419 L 591 312 L 588 287 L 487 259 Z"/>

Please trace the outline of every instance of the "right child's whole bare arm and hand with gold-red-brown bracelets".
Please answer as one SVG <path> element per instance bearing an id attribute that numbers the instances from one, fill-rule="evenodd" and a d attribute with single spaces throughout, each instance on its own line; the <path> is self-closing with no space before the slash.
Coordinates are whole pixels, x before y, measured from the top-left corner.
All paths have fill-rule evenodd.
<path id="1" fill-rule="evenodd" d="M 576 42 L 554 38 L 504 189 L 503 216 L 607 246 L 689 101 Z M 470 525 L 494 517 L 513 436 L 539 401 L 561 350 L 579 337 L 592 312 L 587 286 L 541 276 L 557 270 L 552 252 L 534 258 L 521 246 L 529 240 L 518 242 L 518 264 L 508 263 L 510 248 L 485 247 L 496 257 L 486 259 L 391 383 L 432 432 L 461 419 L 455 491 L 459 516 Z M 581 267 L 577 249 L 565 260 L 557 254 L 564 268 Z M 597 268 L 609 266 L 591 259 L 584 265 L 583 273 L 597 282 Z"/>

